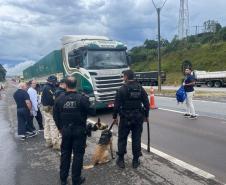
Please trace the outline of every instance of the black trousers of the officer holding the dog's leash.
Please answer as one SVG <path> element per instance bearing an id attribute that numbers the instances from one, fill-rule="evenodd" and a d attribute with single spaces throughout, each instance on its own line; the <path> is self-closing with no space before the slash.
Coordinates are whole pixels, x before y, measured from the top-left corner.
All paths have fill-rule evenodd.
<path id="1" fill-rule="evenodd" d="M 134 158 L 139 158 L 141 153 L 141 135 L 143 131 L 143 114 L 140 112 L 123 113 L 120 116 L 118 128 L 118 152 L 119 156 L 126 153 L 127 139 L 131 131 L 132 133 L 132 152 Z"/>

